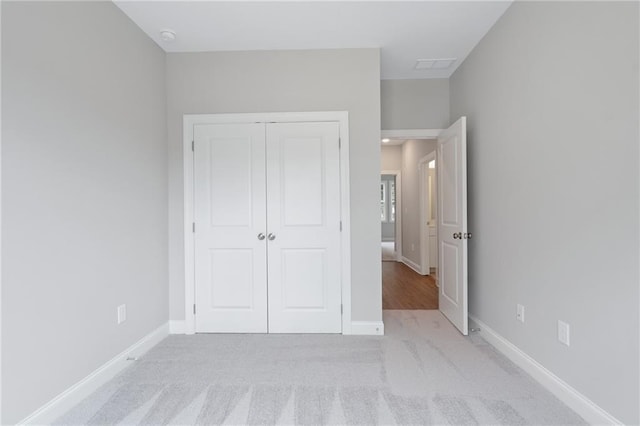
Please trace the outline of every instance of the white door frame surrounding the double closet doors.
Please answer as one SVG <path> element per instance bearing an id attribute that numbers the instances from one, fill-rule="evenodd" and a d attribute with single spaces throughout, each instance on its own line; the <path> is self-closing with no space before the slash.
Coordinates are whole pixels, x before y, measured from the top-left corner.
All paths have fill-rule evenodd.
<path id="1" fill-rule="evenodd" d="M 349 188 L 349 112 L 265 112 L 246 114 L 184 114 L 183 178 L 184 178 L 184 300 L 185 334 L 195 333 L 195 236 L 193 127 L 197 124 L 241 124 L 274 122 L 337 122 L 340 129 L 340 265 L 342 288 L 342 334 L 351 334 L 351 209 Z"/>

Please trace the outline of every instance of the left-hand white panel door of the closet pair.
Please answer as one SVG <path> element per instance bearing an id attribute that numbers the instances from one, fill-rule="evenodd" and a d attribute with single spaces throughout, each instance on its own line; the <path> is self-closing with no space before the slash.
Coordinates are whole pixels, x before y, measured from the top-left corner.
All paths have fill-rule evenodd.
<path id="1" fill-rule="evenodd" d="M 267 332 L 264 124 L 194 128 L 196 332 Z"/>

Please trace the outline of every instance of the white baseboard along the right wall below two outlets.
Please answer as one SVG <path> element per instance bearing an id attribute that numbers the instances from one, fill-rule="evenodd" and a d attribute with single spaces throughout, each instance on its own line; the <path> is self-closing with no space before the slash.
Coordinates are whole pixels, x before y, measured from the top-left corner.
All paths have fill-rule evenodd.
<path id="1" fill-rule="evenodd" d="M 572 410 L 582 416 L 592 425 L 621 425 L 620 420 L 607 413 L 596 403 L 572 388 L 565 381 L 547 370 L 542 364 L 520 350 L 513 343 L 496 333 L 479 319 L 469 316 L 469 319 L 480 327 L 480 335 L 503 355 L 513 361 L 548 391 L 567 404 Z"/>

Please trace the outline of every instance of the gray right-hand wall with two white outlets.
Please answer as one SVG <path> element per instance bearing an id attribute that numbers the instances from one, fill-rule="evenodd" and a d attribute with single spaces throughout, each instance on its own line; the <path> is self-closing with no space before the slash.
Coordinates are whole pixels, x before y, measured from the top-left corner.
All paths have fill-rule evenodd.
<path id="1" fill-rule="evenodd" d="M 637 2 L 515 2 L 451 79 L 451 117 L 469 119 L 471 313 L 626 424 L 640 423 L 638 39 Z"/>

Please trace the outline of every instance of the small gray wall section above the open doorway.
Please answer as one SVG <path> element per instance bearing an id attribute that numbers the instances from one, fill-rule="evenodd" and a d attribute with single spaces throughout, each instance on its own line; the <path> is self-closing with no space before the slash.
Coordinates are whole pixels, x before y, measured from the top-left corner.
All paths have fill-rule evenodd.
<path id="1" fill-rule="evenodd" d="M 449 127 L 449 79 L 382 80 L 382 129 Z"/>

